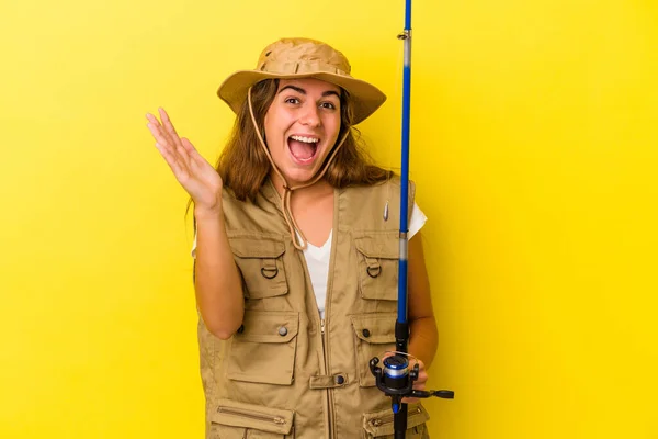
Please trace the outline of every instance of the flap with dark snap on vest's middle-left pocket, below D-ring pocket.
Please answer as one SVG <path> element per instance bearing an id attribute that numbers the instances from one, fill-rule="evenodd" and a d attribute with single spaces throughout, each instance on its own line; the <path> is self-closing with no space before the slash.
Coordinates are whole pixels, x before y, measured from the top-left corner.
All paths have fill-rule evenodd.
<path id="1" fill-rule="evenodd" d="M 297 335 L 299 314 L 276 311 L 246 311 L 235 341 L 288 342 Z"/>

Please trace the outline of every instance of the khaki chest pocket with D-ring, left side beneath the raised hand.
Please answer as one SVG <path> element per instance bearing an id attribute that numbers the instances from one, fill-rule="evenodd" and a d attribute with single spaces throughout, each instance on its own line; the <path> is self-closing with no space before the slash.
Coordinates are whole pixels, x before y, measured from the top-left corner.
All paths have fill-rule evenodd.
<path id="1" fill-rule="evenodd" d="M 248 299 L 275 297 L 287 293 L 282 240 L 270 237 L 229 238 L 236 263 L 245 280 Z"/>

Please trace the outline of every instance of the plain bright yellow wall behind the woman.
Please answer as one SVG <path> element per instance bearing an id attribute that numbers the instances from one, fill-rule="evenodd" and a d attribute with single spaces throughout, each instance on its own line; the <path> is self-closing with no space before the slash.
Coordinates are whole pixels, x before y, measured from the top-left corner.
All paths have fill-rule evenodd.
<path id="1" fill-rule="evenodd" d="M 389 101 L 402 1 L 3 0 L 0 437 L 201 438 L 186 196 L 164 106 L 214 161 L 215 97 L 281 36 Z M 658 5 L 416 0 L 412 178 L 441 335 L 433 438 L 658 438 Z"/>

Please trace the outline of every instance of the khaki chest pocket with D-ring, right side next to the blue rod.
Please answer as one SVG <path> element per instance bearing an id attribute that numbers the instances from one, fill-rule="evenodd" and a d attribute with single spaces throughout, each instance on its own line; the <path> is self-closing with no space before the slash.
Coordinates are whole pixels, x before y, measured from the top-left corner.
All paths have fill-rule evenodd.
<path id="1" fill-rule="evenodd" d="M 398 282 L 398 233 L 354 238 L 359 258 L 361 297 L 396 301 Z"/>

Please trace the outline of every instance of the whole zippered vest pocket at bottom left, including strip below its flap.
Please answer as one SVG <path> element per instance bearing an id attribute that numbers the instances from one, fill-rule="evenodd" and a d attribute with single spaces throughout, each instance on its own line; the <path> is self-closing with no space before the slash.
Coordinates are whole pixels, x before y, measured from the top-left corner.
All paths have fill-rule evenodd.
<path id="1" fill-rule="evenodd" d="M 219 399 L 211 418 L 211 439 L 294 438 L 293 410 Z"/>

